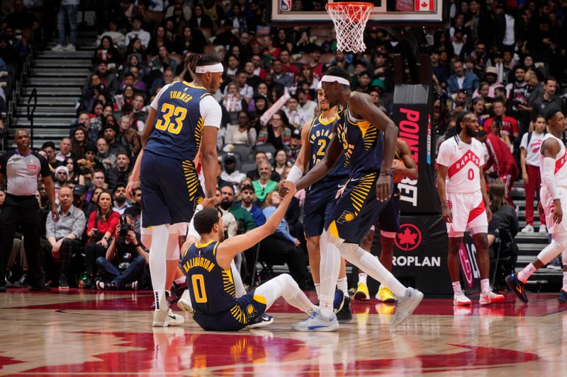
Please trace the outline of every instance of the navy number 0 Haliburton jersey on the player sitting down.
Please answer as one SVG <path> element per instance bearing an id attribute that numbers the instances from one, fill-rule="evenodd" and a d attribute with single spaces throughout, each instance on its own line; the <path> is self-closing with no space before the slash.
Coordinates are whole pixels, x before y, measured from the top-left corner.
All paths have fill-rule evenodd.
<path id="1" fill-rule="evenodd" d="M 207 316 L 229 311 L 237 323 L 245 325 L 247 315 L 238 305 L 232 272 L 217 265 L 218 245 L 218 241 L 193 243 L 183 257 L 195 318 L 199 323 Z"/>

